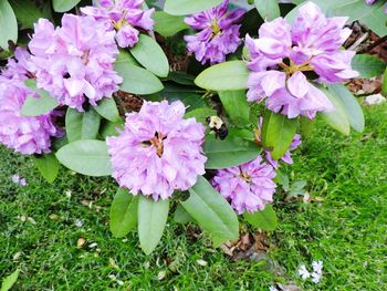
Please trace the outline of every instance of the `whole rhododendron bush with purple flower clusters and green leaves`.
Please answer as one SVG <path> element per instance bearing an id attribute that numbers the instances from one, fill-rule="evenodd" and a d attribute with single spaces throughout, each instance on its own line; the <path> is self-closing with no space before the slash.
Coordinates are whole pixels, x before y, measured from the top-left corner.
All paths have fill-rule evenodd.
<path id="1" fill-rule="evenodd" d="M 364 129 L 345 84 L 384 64 L 347 49 L 351 24 L 387 34 L 383 0 L 280 2 L 0 0 L 0 143 L 50 183 L 113 177 L 112 233 L 146 253 L 168 214 L 215 247 L 275 229 L 276 173 L 314 121 Z"/>

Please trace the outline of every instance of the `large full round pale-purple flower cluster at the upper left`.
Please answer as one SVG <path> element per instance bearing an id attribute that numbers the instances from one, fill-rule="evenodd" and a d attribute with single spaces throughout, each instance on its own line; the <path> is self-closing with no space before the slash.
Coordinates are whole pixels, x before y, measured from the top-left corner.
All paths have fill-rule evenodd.
<path id="1" fill-rule="evenodd" d="M 38 87 L 79 111 L 86 101 L 96 106 L 103 97 L 112 97 L 122 82 L 114 71 L 118 55 L 114 35 L 92 17 L 64 14 L 56 29 L 40 19 L 29 43 L 29 70 Z"/>

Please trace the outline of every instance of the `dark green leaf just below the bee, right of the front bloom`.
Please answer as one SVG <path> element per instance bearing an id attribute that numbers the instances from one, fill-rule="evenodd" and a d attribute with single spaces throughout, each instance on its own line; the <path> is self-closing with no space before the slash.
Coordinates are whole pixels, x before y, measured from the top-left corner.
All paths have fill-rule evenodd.
<path id="1" fill-rule="evenodd" d="M 213 135 L 207 135 L 203 149 L 208 158 L 206 168 L 209 169 L 239 166 L 254 159 L 261 153 L 261 148 L 254 143 L 230 134 L 224 141 L 217 139 Z"/>

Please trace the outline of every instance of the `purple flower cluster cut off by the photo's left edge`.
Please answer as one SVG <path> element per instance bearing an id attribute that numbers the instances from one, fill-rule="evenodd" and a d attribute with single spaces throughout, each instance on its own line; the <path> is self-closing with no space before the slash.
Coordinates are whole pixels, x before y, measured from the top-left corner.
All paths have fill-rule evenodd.
<path id="1" fill-rule="evenodd" d="M 0 143 L 24 155 L 49 153 L 51 136 L 62 135 L 53 123 L 57 113 L 33 117 L 21 114 L 28 96 L 40 96 L 24 85 L 30 74 L 27 69 L 30 54 L 18 48 L 14 55 L 0 75 Z"/>

